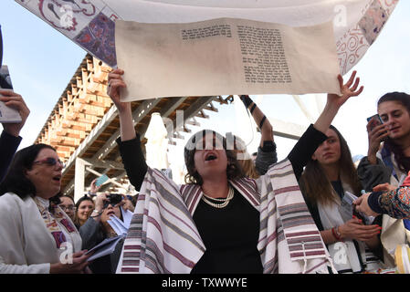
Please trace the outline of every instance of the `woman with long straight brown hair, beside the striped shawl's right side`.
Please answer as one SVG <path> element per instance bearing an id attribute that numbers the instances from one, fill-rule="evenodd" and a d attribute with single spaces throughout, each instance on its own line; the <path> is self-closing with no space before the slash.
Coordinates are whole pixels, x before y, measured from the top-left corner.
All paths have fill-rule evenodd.
<path id="1" fill-rule="evenodd" d="M 372 250 L 378 252 L 380 226 L 365 225 L 352 205 L 343 203 L 345 192 L 360 196 L 362 185 L 340 131 L 330 126 L 324 135 L 310 126 L 289 153 L 289 160 L 338 272 L 379 268 Z M 344 260 L 339 260 L 341 253 Z"/>

